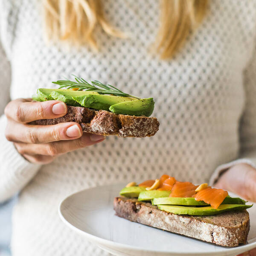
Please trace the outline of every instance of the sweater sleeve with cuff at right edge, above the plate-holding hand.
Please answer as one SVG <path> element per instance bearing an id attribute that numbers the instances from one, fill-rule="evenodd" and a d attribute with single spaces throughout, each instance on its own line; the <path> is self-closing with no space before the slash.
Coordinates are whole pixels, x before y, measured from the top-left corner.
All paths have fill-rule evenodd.
<path id="1" fill-rule="evenodd" d="M 210 185 L 216 183 L 221 174 L 238 163 L 247 163 L 256 168 L 256 50 L 244 71 L 244 93 L 246 101 L 239 125 L 239 158 L 218 166 L 210 178 Z"/>

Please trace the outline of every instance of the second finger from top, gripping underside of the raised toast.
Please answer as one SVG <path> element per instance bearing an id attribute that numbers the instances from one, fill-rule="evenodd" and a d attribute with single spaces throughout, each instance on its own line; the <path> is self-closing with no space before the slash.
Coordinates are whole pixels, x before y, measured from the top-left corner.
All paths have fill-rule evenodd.
<path id="1" fill-rule="evenodd" d="M 76 122 L 56 125 L 24 125 L 9 120 L 6 127 L 6 138 L 12 142 L 49 143 L 59 140 L 75 140 L 83 134 L 81 126 Z"/>

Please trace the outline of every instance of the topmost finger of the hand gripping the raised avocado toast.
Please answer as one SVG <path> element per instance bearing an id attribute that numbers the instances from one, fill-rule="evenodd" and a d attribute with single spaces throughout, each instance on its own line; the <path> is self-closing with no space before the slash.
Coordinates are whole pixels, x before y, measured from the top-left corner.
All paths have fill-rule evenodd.
<path id="1" fill-rule="evenodd" d="M 5 108 L 5 115 L 8 118 L 21 123 L 58 118 L 66 113 L 67 105 L 55 100 L 31 102 L 29 99 L 16 99 L 9 102 Z"/>

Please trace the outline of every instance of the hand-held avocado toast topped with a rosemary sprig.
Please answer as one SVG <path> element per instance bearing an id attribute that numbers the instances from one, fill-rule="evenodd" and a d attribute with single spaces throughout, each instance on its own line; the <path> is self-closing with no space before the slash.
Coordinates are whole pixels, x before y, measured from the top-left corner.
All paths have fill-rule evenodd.
<path id="1" fill-rule="evenodd" d="M 155 117 L 149 117 L 154 110 L 153 98 L 140 99 L 99 81 L 88 83 L 76 76 L 75 80 L 53 82 L 60 85 L 59 89 L 37 90 L 33 100 L 65 102 L 67 114 L 56 119 L 38 120 L 34 124 L 78 122 L 84 132 L 119 137 L 150 137 L 158 131 L 159 122 Z"/>

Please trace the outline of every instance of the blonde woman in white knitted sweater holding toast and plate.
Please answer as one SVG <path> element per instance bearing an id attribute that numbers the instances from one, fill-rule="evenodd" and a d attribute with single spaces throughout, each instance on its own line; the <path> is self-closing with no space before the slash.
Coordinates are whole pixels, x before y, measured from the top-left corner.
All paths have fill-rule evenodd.
<path id="1" fill-rule="evenodd" d="M 168 173 L 197 184 L 210 180 L 256 201 L 254 1 L 1 5 L 12 83 L 2 84 L 0 95 L 4 102 L 10 93 L 12 101 L 0 119 L 0 200 L 21 190 L 13 213 L 14 256 L 103 255 L 57 213 L 63 198 L 91 186 Z M 72 73 L 153 96 L 160 130 L 151 138 L 105 139 L 82 134 L 76 123 L 28 125 L 66 113 L 61 102 L 27 98 Z"/>

